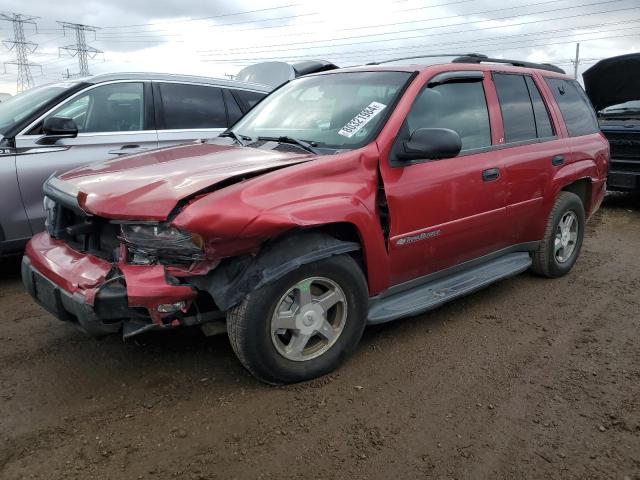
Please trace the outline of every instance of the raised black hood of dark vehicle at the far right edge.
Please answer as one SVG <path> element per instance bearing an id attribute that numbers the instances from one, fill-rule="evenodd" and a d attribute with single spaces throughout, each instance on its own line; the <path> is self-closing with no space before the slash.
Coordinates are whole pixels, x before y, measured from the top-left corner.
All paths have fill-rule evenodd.
<path id="1" fill-rule="evenodd" d="M 640 100 L 640 53 L 600 60 L 585 71 L 582 78 L 596 111 Z"/>

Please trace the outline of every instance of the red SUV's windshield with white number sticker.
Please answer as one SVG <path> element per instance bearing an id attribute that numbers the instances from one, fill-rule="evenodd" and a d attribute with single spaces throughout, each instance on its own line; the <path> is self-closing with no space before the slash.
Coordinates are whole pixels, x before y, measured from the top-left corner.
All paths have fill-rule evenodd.
<path id="1" fill-rule="evenodd" d="M 410 77 L 408 72 L 342 72 L 293 80 L 231 131 L 252 140 L 288 137 L 320 148 L 359 148 L 372 140 Z"/>

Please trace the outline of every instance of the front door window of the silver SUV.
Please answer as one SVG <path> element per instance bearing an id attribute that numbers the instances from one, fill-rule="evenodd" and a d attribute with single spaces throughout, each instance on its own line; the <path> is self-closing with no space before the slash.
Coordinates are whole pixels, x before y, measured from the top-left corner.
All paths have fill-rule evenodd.
<path id="1" fill-rule="evenodd" d="M 49 117 L 73 119 L 80 133 L 144 130 L 144 86 L 129 82 L 98 86 L 66 102 Z"/>

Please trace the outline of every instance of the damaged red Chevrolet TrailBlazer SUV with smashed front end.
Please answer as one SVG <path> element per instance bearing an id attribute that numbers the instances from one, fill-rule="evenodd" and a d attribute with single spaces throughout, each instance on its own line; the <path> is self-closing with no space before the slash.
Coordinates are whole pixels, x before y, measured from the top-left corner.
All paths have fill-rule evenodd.
<path id="1" fill-rule="evenodd" d="M 221 138 L 52 177 L 24 284 L 95 335 L 226 328 L 251 373 L 288 383 L 367 324 L 564 275 L 607 141 L 559 69 L 484 60 L 298 78 Z"/>

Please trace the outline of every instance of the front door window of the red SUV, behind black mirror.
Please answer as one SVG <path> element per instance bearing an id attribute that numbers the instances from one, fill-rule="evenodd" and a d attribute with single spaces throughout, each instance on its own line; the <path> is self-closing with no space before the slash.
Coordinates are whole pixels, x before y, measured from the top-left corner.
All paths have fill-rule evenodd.
<path id="1" fill-rule="evenodd" d="M 460 135 L 462 151 L 491 146 L 489 110 L 482 82 L 444 83 L 425 88 L 407 116 L 409 132 L 448 128 Z"/>

